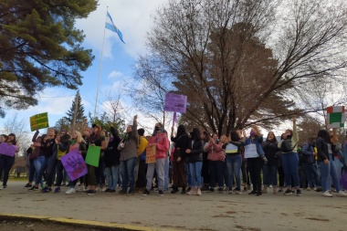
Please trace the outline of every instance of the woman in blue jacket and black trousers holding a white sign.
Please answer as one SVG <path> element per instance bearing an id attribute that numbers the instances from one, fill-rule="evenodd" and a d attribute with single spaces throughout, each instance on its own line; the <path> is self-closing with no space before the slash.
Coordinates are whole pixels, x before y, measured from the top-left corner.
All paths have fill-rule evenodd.
<path id="1" fill-rule="evenodd" d="M 246 133 L 244 131 L 244 136 Z M 249 170 L 250 181 L 253 184 L 253 190 L 249 194 L 256 194 L 257 196 L 262 194 L 261 191 L 261 168 L 262 161 L 268 162 L 265 157 L 264 150 L 261 147 L 263 142 L 263 135 L 260 133 L 258 126 L 253 125 L 252 130 L 249 133 L 249 137 L 246 139 L 245 146 L 245 158 L 247 159 L 247 166 Z"/>

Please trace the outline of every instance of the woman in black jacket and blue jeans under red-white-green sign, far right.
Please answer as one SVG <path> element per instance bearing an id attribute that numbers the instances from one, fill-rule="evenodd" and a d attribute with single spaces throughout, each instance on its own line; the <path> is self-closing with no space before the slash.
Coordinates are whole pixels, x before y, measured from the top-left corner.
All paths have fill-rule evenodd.
<path id="1" fill-rule="evenodd" d="M 336 165 L 332 156 L 334 145 L 331 143 L 330 134 L 326 130 L 318 131 L 316 147 L 318 152 L 318 163 L 321 167 L 321 187 L 323 196 L 331 197 L 332 194 L 327 190 L 328 177 L 331 175 L 332 183 L 334 184 L 337 196 L 347 196 L 341 190 L 341 184 L 337 180 Z"/>

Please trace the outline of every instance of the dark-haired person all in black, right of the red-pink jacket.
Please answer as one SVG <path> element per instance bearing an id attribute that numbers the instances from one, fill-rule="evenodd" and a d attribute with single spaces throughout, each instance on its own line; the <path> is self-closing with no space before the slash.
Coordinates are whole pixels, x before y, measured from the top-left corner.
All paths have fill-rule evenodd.
<path id="1" fill-rule="evenodd" d="M 185 194 L 185 188 L 187 186 L 185 174 L 187 154 L 185 153 L 185 150 L 190 148 L 190 141 L 183 124 L 178 126 L 175 137 L 174 127 L 172 127 L 171 141 L 174 142 L 174 185 L 171 193 L 177 193 L 178 188 L 182 187 L 182 194 Z"/>

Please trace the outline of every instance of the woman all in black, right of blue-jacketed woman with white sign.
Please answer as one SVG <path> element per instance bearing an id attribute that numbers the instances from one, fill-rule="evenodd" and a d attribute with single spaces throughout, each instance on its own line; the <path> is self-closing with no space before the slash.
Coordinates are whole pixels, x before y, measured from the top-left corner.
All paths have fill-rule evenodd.
<path id="1" fill-rule="evenodd" d="M 263 165 L 263 194 L 268 193 L 268 186 L 272 184 L 273 194 L 277 194 L 277 172 L 279 166 L 279 152 L 278 141 L 276 140 L 275 133 L 268 132 L 268 138 L 262 143 L 265 157 L 268 162 Z"/>

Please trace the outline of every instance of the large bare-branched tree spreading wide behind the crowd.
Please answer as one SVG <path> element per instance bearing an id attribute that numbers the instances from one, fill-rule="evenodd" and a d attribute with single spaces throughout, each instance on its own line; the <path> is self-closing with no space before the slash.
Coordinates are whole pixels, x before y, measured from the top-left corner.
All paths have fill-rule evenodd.
<path id="1" fill-rule="evenodd" d="M 302 81 L 342 79 L 346 5 L 293 1 L 169 1 L 148 47 L 155 69 L 188 96 L 183 122 L 219 134 L 274 127 L 306 113 Z"/>

